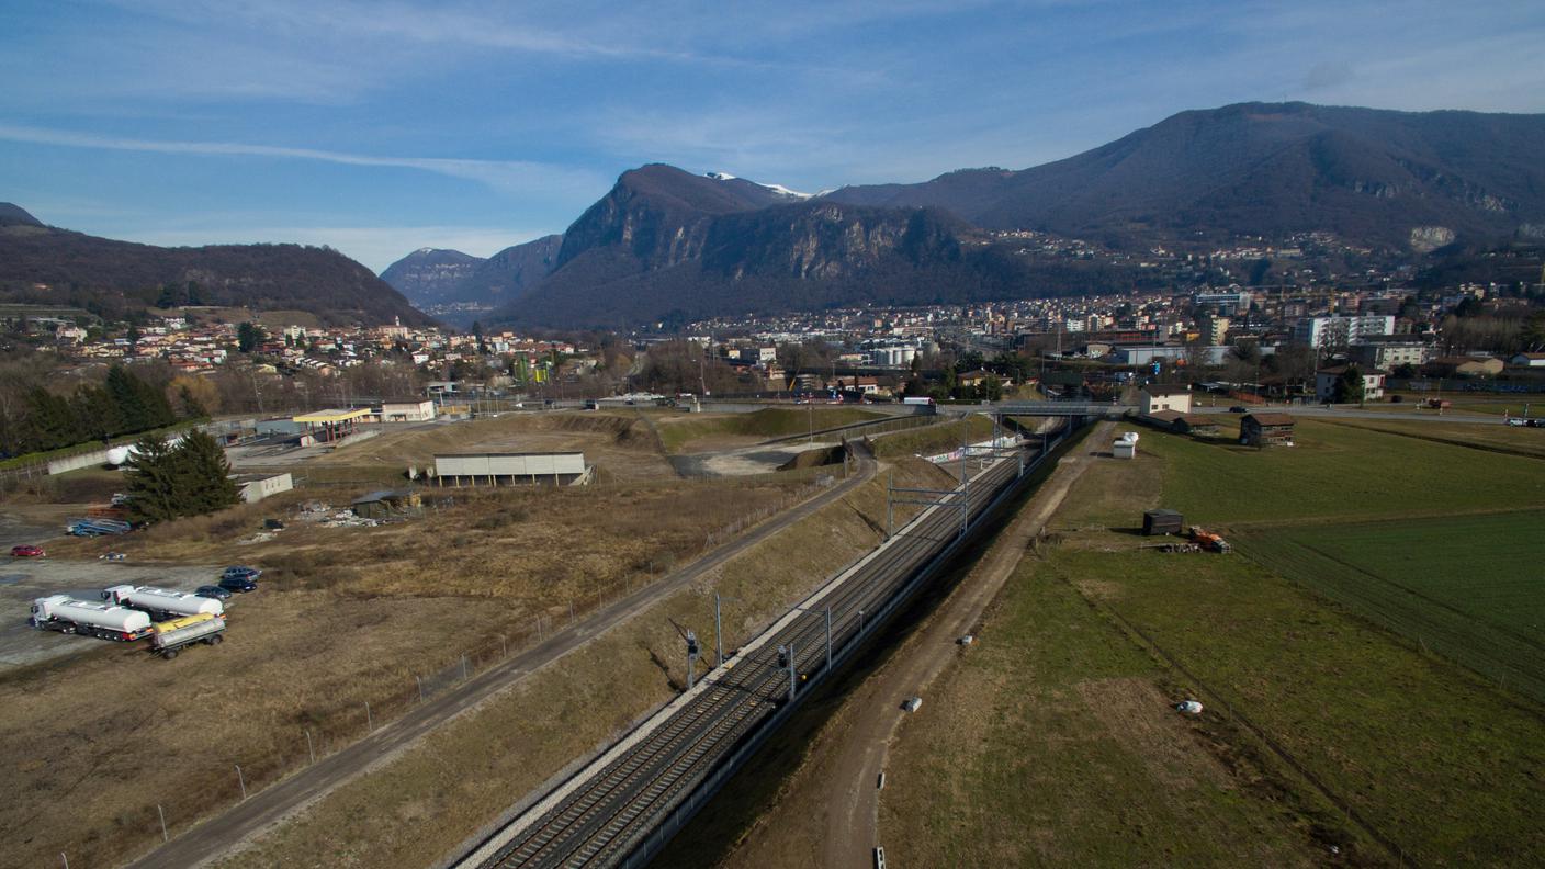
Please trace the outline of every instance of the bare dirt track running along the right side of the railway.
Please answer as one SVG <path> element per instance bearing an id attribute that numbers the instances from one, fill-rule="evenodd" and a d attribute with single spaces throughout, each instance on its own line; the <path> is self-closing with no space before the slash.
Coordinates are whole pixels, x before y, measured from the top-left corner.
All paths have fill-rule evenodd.
<path id="1" fill-rule="evenodd" d="M 1014 574 L 1068 490 L 1109 441 L 1111 422 L 1098 424 L 1058 461 L 1007 529 L 998 535 L 961 584 L 864 682 L 820 733 L 777 806 L 763 815 L 725 866 L 873 866 L 878 841 L 879 776 L 902 717 L 902 700 L 919 694 L 961 654 L 956 640 L 981 623 L 983 612 Z"/>

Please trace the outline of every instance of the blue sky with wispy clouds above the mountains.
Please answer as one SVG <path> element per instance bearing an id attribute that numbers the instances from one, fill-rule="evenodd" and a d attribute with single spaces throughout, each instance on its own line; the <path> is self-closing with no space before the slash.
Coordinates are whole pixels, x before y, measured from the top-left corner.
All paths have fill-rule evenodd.
<path id="1" fill-rule="evenodd" d="M 1023 169 L 1242 101 L 1545 111 L 1545 3 L 6 0 L 0 201 L 375 271 L 561 232 L 643 162 Z"/>

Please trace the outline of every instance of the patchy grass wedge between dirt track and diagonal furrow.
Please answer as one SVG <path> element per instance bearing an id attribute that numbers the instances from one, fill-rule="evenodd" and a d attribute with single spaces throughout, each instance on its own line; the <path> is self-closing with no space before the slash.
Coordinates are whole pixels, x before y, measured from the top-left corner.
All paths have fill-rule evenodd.
<path id="1" fill-rule="evenodd" d="M 1259 782 L 1255 761 L 1214 756 L 1217 725 L 1174 714 L 1166 670 L 1057 572 L 1021 564 L 981 642 L 904 725 L 881 799 L 888 861 L 1307 866 L 1324 854 L 1312 821 L 1228 772 Z"/>

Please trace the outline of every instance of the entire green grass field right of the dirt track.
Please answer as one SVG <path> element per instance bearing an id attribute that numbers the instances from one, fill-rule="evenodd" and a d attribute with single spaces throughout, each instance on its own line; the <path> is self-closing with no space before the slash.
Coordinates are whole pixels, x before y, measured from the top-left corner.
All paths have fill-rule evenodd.
<path id="1" fill-rule="evenodd" d="M 1088 469 L 891 747 L 898 860 L 1539 863 L 1545 464 L 1318 422 L 1298 442 L 1143 431 Z M 1239 552 L 1146 549 L 1156 506 Z M 1187 696 L 1207 711 L 1180 725 Z"/>

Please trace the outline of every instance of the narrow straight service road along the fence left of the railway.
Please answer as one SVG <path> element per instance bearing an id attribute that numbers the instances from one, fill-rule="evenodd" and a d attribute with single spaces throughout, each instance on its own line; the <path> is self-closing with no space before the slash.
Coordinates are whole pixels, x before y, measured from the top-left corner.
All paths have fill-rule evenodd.
<path id="1" fill-rule="evenodd" d="M 130 869 L 193 869 L 221 857 L 249 837 L 261 833 L 294 812 L 326 796 L 338 786 L 368 772 L 375 764 L 385 762 L 396 753 L 411 747 L 436 727 L 476 707 L 504 688 L 518 683 L 530 673 L 556 662 L 627 619 L 649 609 L 660 598 L 712 572 L 725 561 L 740 555 L 745 549 L 756 546 L 842 498 L 874 476 L 874 459 L 864 452 L 862 445 L 857 447 L 857 472 L 830 490 L 714 549 L 664 580 L 606 605 L 579 623 L 558 631 L 544 643 L 518 653 L 508 660 L 473 676 L 445 694 L 419 705 L 397 721 L 382 725 L 354 745 L 321 758 L 290 778 L 253 793 L 246 801 L 232 806 L 219 815 L 204 820 L 204 823 L 171 840 L 168 844 L 130 863 Z"/>

